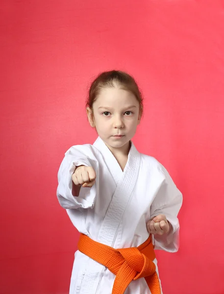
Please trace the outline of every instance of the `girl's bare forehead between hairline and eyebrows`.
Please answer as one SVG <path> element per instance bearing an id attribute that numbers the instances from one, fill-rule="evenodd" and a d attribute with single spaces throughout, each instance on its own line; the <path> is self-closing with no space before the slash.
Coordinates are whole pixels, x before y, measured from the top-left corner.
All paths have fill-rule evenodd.
<path id="1" fill-rule="evenodd" d="M 95 103 L 100 106 L 117 106 L 117 105 L 139 105 L 135 95 L 121 88 L 105 88 L 100 91 Z"/>

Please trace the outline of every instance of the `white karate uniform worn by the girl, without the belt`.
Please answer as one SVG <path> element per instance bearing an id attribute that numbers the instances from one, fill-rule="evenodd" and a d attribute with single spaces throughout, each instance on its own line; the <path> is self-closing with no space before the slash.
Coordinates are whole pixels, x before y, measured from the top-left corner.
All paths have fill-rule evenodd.
<path id="1" fill-rule="evenodd" d="M 75 166 L 92 166 L 97 174 L 92 188 L 81 187 L 72 194 Z M 155 235 L 155 249 L 178 249 L 177 214 L 182 194 L 166 169 L 153 157 L 141 154 L 131 143 L 122 171 L 117 160 L 100 139 L 93 145 L 71 147 L 58 172 L 57 197 L 80 233 L 114 248 L 139 246 L 149 233 L 146 223 L 164 214 L 172 224 L 169 234 Z M 157 261 L 156 265 L 158 274 Z M 80 251 L 75 252 L 70 294 L 111 294 L 115 275 Z M 125 294 L 150 294 L 144 278 L 131 281 Z"/>

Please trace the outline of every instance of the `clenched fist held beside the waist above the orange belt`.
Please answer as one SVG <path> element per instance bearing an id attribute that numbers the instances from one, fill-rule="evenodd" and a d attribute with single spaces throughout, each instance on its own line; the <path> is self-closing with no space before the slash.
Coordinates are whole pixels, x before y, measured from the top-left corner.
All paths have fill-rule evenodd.
<path id="1" fill-rule="evenodd" d="M 169 221 L 167 221 L 167 218 L 164 215 L 158 215 L 157 217 L 154 217 L 148 221 L 146 225 L 149 234 L 153 235 L 163 235 L 168 233 L 170 230 Z"/>

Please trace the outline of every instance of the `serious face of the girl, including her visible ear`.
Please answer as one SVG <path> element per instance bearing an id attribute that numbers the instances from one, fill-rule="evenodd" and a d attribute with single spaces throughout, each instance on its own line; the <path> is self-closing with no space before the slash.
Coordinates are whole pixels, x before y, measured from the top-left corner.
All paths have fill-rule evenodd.
<path id="1" fill-rule="evenodd" d="M 109 148 L 122 148 L 132 139 L 140 123 L 139 102 L 134 94 L 120 88 L 106 88 L 93 103 L 92 126 Z"/>

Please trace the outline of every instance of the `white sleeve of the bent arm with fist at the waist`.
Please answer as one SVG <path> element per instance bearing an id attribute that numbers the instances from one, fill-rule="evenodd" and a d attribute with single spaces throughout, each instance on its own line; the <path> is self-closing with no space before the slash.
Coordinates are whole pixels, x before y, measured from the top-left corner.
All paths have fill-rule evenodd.
<path id="1" fill-rule="evenodd" d="M 178 212 L 182 205 L 182 194 L 177 189 L 170 174 L 161 165 L 161 172 L 165 179 L 150 206 L 150 219 L 158 215 L 165 215 L 172 225 L 168 234 L 152 235 L 154 249 L 176 252 L 179 247 L 179 221 Z"/>

